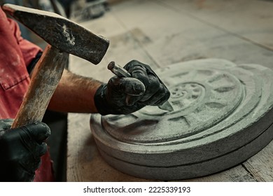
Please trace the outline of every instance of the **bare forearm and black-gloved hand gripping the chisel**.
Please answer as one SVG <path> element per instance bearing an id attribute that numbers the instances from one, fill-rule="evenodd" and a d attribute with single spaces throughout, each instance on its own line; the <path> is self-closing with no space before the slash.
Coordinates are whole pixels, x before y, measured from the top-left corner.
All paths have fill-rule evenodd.
<path id="1" fill-rule="evenodd" d="M 133 60 L 125 65 L 132 78 L 113 76 L 101 83 L 64 70 L 48 109 L 62 112 L 127 114 L 146 105 L 159 106 L 169 90 L 150 66 Z"/>

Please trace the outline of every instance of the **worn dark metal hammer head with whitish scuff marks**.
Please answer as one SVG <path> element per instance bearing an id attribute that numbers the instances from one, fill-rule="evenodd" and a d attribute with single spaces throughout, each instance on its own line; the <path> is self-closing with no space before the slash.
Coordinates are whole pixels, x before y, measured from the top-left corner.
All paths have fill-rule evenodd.
<path id="1" fill-rule="evenodd" d="M 102 60 L 109 47 L 106 38 L 55 13 L 12 4 L 4 4 L 2 9 L 50 45 L 93 64 Z"/>

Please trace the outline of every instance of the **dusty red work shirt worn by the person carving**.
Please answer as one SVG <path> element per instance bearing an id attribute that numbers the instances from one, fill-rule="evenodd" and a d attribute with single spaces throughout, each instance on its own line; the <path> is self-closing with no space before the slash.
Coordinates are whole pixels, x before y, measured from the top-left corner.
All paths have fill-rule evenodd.
<path id="1" fill-rule="evenodd" d="M 15 118 L 29 86 L 27 65 L 41 51 L 37 45 L 21 36 L 18 24 L 6 18 L 0 7 L 0 118 Z M 42 165 L 34 181 L 52 181 L 49 153 L 43 155 Z"/>

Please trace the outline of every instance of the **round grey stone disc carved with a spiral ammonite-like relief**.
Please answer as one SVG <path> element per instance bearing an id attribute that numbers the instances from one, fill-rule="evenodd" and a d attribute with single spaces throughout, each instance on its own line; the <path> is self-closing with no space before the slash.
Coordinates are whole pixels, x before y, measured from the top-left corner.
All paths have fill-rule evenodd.
<path id="1" fill-rule="evenodd" d="M 200 59 L 155 70 L 174 111 L 92 115 L 100 153 L 121 172 L 145 179 L 189 179 L 228 169 L 273 138 L 273 79 L 258 64 Z"/>

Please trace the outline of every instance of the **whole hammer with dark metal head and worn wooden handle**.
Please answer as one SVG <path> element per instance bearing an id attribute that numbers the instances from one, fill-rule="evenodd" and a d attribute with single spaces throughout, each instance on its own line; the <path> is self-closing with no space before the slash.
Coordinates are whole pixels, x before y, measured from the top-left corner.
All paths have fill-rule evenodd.
<path id="1" fill-rule="evenodd" d="M 55 13 L 12 4 L 4 4 L 2 9 L 48 43 L 34 68 L 29 88 L 11 126 L 14 128 L 41 122 L 69 53 L 98 64 L 109 41 Z"/>

